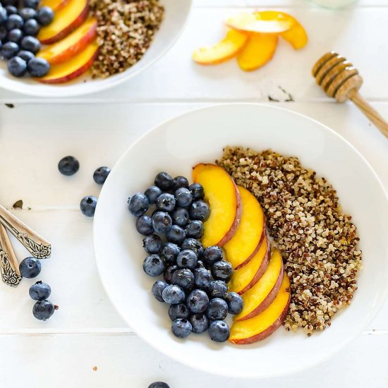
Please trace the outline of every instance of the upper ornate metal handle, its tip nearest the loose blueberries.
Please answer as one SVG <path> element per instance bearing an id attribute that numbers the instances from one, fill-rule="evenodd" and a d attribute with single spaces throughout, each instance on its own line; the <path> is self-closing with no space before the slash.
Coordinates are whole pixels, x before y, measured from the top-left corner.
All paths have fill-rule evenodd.
<path id="1" fill-rule="evenodd" d="M 11 231 L 20 243 L 37 259 L 47 259 L 51 255 L 51 244 L 0 205 L 0 222 Z"/>

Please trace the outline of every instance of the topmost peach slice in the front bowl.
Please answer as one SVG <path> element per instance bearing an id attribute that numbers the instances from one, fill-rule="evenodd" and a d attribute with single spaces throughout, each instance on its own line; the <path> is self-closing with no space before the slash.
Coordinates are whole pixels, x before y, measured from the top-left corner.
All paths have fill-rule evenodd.
<path id="1" fill-rule="evenodd" d="M 202 245 L 225 245 L 240 224 L 243 207 L 237 186 L 231 176 L 215 164 L 197 164 L 193 167 L 193 180 L 203 186 L 205 200 L 210 203 Z"/>

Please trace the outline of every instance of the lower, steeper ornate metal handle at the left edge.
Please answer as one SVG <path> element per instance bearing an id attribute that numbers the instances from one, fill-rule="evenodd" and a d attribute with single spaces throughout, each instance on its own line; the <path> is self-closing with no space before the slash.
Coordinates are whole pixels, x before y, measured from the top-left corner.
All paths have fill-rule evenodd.
<path id="1" fill-rule="evenodd" d="M 1 280 L 7 286 L 16 287 L 22 279 L 18 260 L 3 224 L 0 224 L 0 272 Z"/>

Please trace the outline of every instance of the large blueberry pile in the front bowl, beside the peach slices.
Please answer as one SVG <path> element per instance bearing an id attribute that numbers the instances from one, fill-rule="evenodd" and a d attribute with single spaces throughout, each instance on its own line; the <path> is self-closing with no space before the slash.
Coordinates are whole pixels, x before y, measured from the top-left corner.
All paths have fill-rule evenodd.
<path id="1" fill-rule="evenodd" d="M 154 186 L 128 199 L 128 209 L 138 217 L 137 231 L 146 236 L 145 273 L 163 274 L 164 280 L 154 282 L 152 293 L 158 301 L 169 303 L 174 335 L 184 338 L 208 329 L 213 341 L 224 342 L 229 338 L 224 320 L 228 313 L 241 312 L 243 300 L 237 293 L 228 293 L 226 281 L 233 270 L 222 248 L 204 249 L 200 242 L 203 222 L 210 216 L 204 196 L 199 183 L 189 186 L 183 176 L 173 179 L 160 172 Z"/>

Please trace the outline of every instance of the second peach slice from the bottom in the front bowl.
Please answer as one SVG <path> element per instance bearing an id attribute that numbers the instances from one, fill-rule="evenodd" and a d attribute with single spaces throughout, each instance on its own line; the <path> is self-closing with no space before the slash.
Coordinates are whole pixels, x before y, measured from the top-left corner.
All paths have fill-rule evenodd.
<path id="1" fill-rule="evenodd" d="M 262 277 L 251 289 L 243 293 L 244 307 L 241 313 L 236 315 L 235 320 L 248 320 L 262 313 L 277 296 L 282 278 L 283 260 L 279 250 L 274 249 L 269 265 Z"/>

